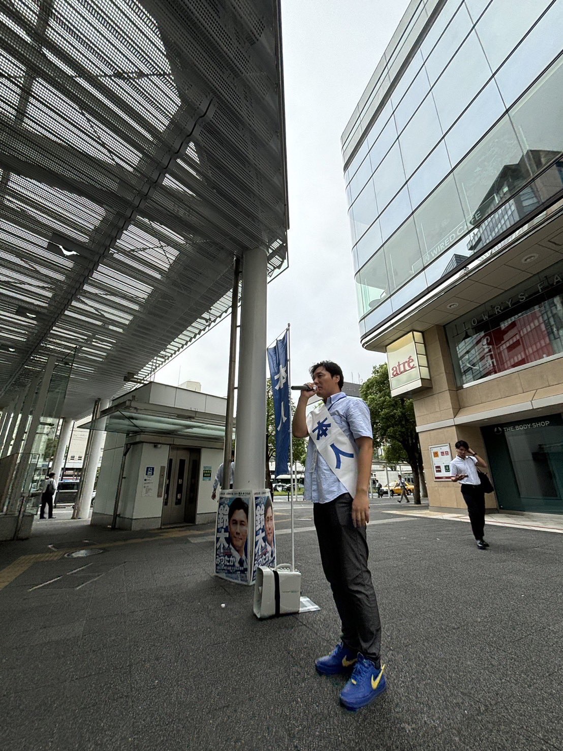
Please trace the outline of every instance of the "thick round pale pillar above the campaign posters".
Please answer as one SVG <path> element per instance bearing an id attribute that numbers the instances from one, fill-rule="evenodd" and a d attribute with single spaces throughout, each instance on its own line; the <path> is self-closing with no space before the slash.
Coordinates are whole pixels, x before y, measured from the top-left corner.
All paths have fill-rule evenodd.
<path id="1" fill-rule="evenodd" d="M 257 248 L 242 258 L 233 486 L 238 490 L 259 490 L 266 481 L 266 303 L 267 258 Z"/>

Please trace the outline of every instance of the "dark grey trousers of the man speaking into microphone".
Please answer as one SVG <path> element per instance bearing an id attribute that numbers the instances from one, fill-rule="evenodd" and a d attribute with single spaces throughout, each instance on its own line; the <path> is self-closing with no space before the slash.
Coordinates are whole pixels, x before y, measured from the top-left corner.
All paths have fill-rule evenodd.
<path id="1" fill-rule="evenodd" d="M 314 503 L 315 529 L 324 575 L 342 621 L 342 643 L 381 668 L 381 621 L 368 569 L 366 527 L 352 523 L 352 500 L 344 493 L 329 503 Z"/>

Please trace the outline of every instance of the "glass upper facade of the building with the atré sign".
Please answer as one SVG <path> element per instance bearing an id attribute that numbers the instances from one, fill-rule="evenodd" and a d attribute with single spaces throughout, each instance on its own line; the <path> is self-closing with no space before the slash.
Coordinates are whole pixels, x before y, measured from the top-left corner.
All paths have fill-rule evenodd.
<path id="1" fill-rule="evenodd" d="M 563 0 L 411 3 L 342 139 L 364 344 L 563 195 L 561 28 Z"/>

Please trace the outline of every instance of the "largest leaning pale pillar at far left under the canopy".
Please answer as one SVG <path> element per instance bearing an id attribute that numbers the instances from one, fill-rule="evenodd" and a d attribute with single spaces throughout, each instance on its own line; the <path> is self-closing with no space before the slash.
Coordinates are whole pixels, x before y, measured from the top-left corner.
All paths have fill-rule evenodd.
<path id="1" fill-rule="evenodd" d="M 29 384 L 29 391 L 26 394 L 26 400 L 24 402 L 24 409 L 22 411 L 22 423 L 20 424 L 20 427 L 27 424 L 27 412 L 26 412 L 26 403 L 29 403 L 31 400 L 32 407 L 29 409 L 32 409 L 31 413 L 31 421 L 29 421 L 29 428 L 26 433 L 26 438 L 23 442 L 22 450 L 20 452 L 20 460 L 17 463 L 15 472 L 14 472 L 14 481 L 12 483 L 12 487 L 10 490 L 10 500 L 8 502 L 8 512 L 10 511 L 17 511 L 18 513 L 23 508 L 23 502 L 25 501 L 27 493 L 29 493 L 29 487 L 26 486 L 26 475 L 28 473 L 29 469 L 29 458 L 31 457 L 32 451 L 33 451 L 33 443 L 35 441 L 35 436 L 37 436 L 37 431 L 39 427 L 39 423 L 41 421 L 41 417 L 43 415 L 43 410 L 45 409 L 45 402 L 47 401 L 47 394 L 49 394 L 49 387 L 51 384 L 51 375 L 53 375 L 53 369 L 55 368 L 56 363 L 56 356 L 54 354 L 50 355 L 50 357 L 47 357 L 47 362 L 45 363 L 45 367 L 43 370 L 43 373 L 39 373 L 35 376 L 35 379 Z M 33 397 L 35 396 L 35 389 L 38 380 L 41 378 L 41 385 L 39 387 L 39 391 L 37 394 L 37 399 L 35 400 L 35 404 L 33 404 Z M 29 400 L 29 397 L 30 400 Z M 18 434 L 20 433 L 20 428 L 18 428 Z M 17 449 L 19 448 L 17 443 L 17 438 L 14 441 L 14 448 L 12 450 L 12 453 L 16 453 Z"/>

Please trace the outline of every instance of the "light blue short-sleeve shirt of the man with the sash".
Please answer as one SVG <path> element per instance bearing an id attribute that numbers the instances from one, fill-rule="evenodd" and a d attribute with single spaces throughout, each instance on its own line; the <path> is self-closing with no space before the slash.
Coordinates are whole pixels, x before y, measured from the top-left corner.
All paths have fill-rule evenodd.
<path id="1" fill-rule="evenodd" d="M 351 440 L 356 454 L 355 439 L 365 436 L 373 438 L 369 407 L 363 399 L 348 397 L 344 391 L 327 399 L 327 409 L 342 433 Z M 314 503 L 328 503 L 343 493 L 348 493 L 339 478 L 317 451 L 315 442 L 309 439 L 305 462 L 304 498 Z"/>

